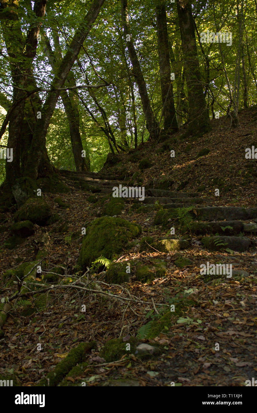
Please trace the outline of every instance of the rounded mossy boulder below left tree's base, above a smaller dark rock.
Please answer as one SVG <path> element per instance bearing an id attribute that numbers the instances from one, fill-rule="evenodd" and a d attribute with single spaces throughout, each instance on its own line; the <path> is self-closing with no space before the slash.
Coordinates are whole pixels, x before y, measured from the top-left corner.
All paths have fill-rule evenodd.
<path id="1" fill-rule="evenodd" d="M 25 204 L 14 214 L 14 221 L 31 221 L 46 225 L 51 216 L 49 205 L 39 198 L 28 198 Z"/>

